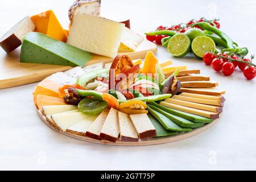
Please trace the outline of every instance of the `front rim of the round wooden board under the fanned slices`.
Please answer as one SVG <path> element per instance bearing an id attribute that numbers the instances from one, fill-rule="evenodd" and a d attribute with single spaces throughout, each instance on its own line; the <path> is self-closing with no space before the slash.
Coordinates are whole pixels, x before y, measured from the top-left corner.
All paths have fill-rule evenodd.
<path id="1" fill-rule="evenodd" d="M 209 129 L 210 127 L 212 127 L 213 125 L 215 125 L 218 122 L 218 119 L 215 119 L 212 123 L 209 124 L 205 124 L 203 127 L 200 127 L 198 129 L 193 129 L 192 131 L 188 132 L 188 133 L 180 133 L 177 135 L 172 135 L 170 137 L 156 137 L 156 138 L 149 138 L 149 139 L 143 139 L 140 140 L 139 142 L 122 142 L 120 140 L 118 140 L 116 143 L 112 143 L 112 142 L 108 142 L 106 140 L 96 140 L 96 139 L 92 139 L 92 138 L 88 138 L 88 137 L 82 137 L 79 135 L 75 135 L 75 134 L 71 134 L 71 133 L 65 133 L 59 130 L 56 130 L 52 125 L 50 125 L 46 119 L 46 117 L 44 117 L 44 115 L 41 113 L 40 110 L 37 110 L 37 113 L 40 117 L 40 119 L 47 125 L 49 126 L 51 129 L 66 135 L 68 137 L 72 137 L 75 139 L 79 139 L 79 140 L 83 140 L 85 142 L 92 142 L 92 143 L 98 143 L 98 144 L 106 144 L 106 145 L 112 145 L 112 146 L 149 146 L 149 145 L 154 145 L 154 144 L 162 144 L 162 143 L 170 143 L 170 142 L 175 142 L 177 140 L 182 140 L 185 138 L 189 138 L 192 137 L 194 135 L 200 134 L 203 131 Z"/>

